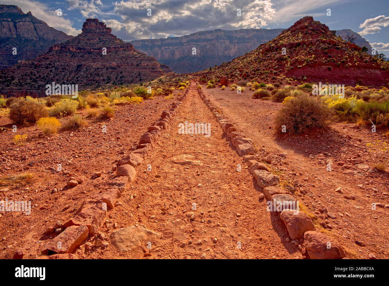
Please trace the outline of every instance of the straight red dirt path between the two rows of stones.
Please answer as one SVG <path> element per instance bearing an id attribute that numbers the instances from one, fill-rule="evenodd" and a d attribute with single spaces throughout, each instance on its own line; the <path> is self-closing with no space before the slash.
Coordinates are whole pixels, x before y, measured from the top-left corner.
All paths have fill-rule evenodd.
<path id="1" fill-rule="evenodd" d="M 178 125 L 185 121 L 210 123 L 210 137 L 179 134 Z M 162 134 L 142 168 L 137 169 L 129 191 L 119 199 L 123 206 L 109 212 L 118 227 L 144 225 L 160 233 L 161 239 L 153 240 L 151 249 L 145 245 L 144 253 L 121 254 L 110 245 L 104 253 L 100 250 L 91 257 L 302 257 L 297 246 L 286 243 L 286 229 L 279 219 L 271 218 L 266 203 L 258 200 L 259 193 L 242 158 L 223 139 L 221 128 L 195 89 L 190 90 Z M 182 155 L 193 156 L 189 158 L 192 165 L 173 162 Z M 148 164 L 151 171 L 145 170 Z M 241 171 L 237 171 L 238 164 L 242 164 Z M 195 244 L 199 240 L 202 245 Z"/>

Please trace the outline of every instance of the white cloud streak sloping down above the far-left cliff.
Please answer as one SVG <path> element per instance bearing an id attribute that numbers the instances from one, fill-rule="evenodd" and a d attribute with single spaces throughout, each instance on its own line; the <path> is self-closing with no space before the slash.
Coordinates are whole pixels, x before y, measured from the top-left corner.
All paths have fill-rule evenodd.
<path id="1" fill-rule="evenodd" d="M 76 36 L 81 33 L 81 30 L 73 28 L 72 21 L 57 15 L 56 9 L 62 9 L 63 7 L 54 7 L 54 10 L 51 10 L 45 4 L 31 0 L 2 0 L 2 4 L 17 5 L 24 13 L 31 11 L 32 15 L 39 20 L 45 21 L 50 27 L 63 31 L 68 35 Z M 63 9 L 62 12 L 64 12 Z"/>

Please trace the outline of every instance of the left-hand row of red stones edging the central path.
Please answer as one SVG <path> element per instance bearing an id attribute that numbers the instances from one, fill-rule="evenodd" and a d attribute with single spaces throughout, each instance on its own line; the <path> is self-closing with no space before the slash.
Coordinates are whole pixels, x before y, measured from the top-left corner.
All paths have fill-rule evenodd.
<path id="1" fill-rule="evenodd" d="M 84 244 L 89 236 L 96 236 L 94 243 L 96 247 L 107 247 L 109 245 L 109 243 L 103 241 L 105 235 L 99 232 L 99 228 L 106 220 L 108 208 L 114 208 L 117 199 L 128 188 L 129 182 L 134 180 L 137 174 L 135 167 L 142 164 L 145 156 L 151 151 L 154 143 L 161 135 L 161 131 L 166 129 L 173 116 L 176 115 L 188 92 L 189 89 L 177 101 L 172 103 L 171 109 L 162 112 L 161 118 L 140 137 L 136 148 L 119 159 L 116 166 L 112 166 L 112 170 L 116 170 L 116 177 L 108 180 L 99 194 L 84 200 L 71 218 L 63 224 L 57 222 L 51 228 L 51 231 L 60 232 L 60 234 L 44 246 L 42 255 L 51 255 L 49 258 L 54 258 L 54 256 L 55 258 L 72 258 L 69 257 L 69 255 L 72 256 L 70 253 L 81 244 Z M 49 233 L 50 231 L 46 231 L 46 234 Z"/>

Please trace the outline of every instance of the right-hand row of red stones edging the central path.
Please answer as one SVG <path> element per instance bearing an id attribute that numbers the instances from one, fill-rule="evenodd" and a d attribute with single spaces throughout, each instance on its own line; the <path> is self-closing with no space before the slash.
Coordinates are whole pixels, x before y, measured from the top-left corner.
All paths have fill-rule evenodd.
<path id="1" fill-rule="evenodd" d="M 231 141 L 238 155 L 243 157 L 249 172 L 256 179 L 258 186 L 262 188 L 263 194 L 259 196 L 259 199 L 265 197 L 268 210 L 275 211 L 275 214 L 280 216 L 289 237 L 292 239 L 291 243 L 298 246 L 300 250 L 302 250 L 301 244 L 305 243 L 305 255 L 311 259 L 344 258 L 343 247 L 326 234 L 316 231 L 312 219 L 305 212 L 299 211 L 296 198 L 290 192 L 279 187 L 280 177 L 271 173 L 265 164 L 255 160 L 253 141 L 247 138 L 244 133 L 239 132 L 221 114 L 221 111 L 212 106 L 202 90 L 198 90 L 198 94 L 219 122 L 225 132 L 226 139 Z M 289 237 L 287 237 L 286 242 L 290 241 Z"/>

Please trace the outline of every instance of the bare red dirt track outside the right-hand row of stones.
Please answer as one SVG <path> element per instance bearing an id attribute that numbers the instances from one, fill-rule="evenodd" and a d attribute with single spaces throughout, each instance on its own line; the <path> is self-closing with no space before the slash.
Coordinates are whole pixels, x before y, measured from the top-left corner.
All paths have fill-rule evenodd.
<path id="1" fill-rule="evenodd" d="M 251 91 L 238 95 L 214 88 L 203 92 L 234 126 L 249 135 L 260 157 L 271 160 L 284 182 L 295 186 L 295 196 L 317 216 L 317 229 L 336 237 L 347 247 L 350 258 L 368 258 L 370 253 L 389 257 L 389 209 L 371 209 L 372 203 L 389 203 L 389 177 L 371 169 L 380 158 L 366 151 L 366 144 L 381 140 L 381 135 L 337 123 L 328 132 L 277 137 L 272 127 L 280 103 L 252 99 Z M 285 156 L 279 155 L 282 153 Z M 332 162 L 331 172 L 327 161 Z M 342 162 L 351 168 L 342 168 Z M 367 164 L 370 170 L 359 170 L 354 164 Z M 338 187 L 342 192 L 335 192 Z"/>

